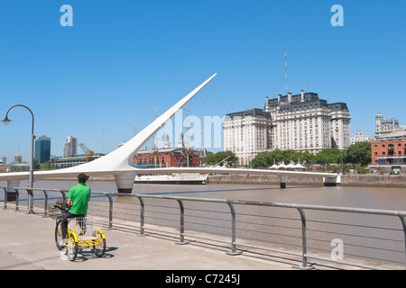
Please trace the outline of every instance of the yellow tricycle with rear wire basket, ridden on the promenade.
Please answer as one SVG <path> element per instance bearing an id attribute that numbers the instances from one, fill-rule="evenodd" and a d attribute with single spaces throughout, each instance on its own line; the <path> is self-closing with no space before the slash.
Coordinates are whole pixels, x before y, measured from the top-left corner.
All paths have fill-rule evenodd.
<path id="1" fill-rule="evenodd" d="M 106 235 L 101 229 L 103 220 L 91 217 L 69 218 L 68 240 L 64 242 L 60 227 L 62 219 L 63 215 L 59 216 L 56 220 L 55 244 L 59 250 L 66 247 L 67 256 L 70 261 L 75 261 L 76 257 L 78 257 L 78 248 L 82 247 L 92 247 L 96 257 L 103 257 L 105 255 Z"/>

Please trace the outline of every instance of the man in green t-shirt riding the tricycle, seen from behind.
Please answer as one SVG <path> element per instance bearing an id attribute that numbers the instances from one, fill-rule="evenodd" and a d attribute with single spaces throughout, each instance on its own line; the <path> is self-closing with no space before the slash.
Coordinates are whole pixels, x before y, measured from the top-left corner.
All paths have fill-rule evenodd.
<path id="1" fill-rule="evenodd" d="M 86 180 L 88 180 L 88 175 L 80 173 L 78 175 L 78 184 L 69 189 L 67 204 L 70 209 L 60 222 L 63 238 L 67 238 L 68 219 L 85 217 L 88 213 L 90 188 L 86 185 Z"/>

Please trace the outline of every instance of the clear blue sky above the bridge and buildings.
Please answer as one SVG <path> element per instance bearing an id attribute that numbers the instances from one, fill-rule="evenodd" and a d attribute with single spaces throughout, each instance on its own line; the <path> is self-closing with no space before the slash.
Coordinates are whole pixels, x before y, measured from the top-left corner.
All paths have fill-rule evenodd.
<path id="1" fill-rule="evenodd" d="M 73 27 L 60 25 L 62 4 Z M 330 24 L 333 4 L 344 27 Z M 56 156 L 69 135 L 110 152 L 214 73 L 191 114 L 263 108 L 285 94 L 287 50 L 292 94 L 347 103 L 352 135 L 374 135 L 377 112 L 406 124 L 405 31 L 403 0 L 2 0 L 0 117 L 29 106 Z M 9 116 L 0 157 L 28 161 L 31 115 Z"/>

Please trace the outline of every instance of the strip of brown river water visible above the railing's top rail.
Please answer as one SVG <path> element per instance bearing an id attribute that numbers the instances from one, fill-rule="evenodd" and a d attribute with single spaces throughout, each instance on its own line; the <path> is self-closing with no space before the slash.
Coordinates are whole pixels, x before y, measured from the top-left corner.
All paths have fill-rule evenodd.
<path id="1" fill-rule="evenodd" d="M 1 185 L 5 183 L 0 182 Z M 45 181 L 34 183 L 36 188 L 69 189 L 76 181 Z M 20 186 L 26 186 L 21 182 Z M 116 192 L 113 181 L 89 181 L 95 192 Z M 287 202 L 406 211 L 406 188 L 382 187 L 324 187 L 269 184 L 134 184 L 133 193 L 180 195 L 189 197 L 235 199 L 263 202 Z"/>

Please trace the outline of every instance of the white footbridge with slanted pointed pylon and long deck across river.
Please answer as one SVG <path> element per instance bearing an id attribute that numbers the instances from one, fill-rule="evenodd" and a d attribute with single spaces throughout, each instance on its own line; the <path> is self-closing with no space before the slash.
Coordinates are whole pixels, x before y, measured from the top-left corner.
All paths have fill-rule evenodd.
<path id="1" fill-rule="evenodd" d="M 260 175 L 278 175 L 281 181 L 281 188 L 285 187 L 285 177 L 289 175 L 307 175 L 323 177 L 326 185 L 335 185 L 339 183 L 339 175 L 332 173 L 311 173 L 311 172 L 296 172 L 296 171 L 276 171 L 276 170 L 261 170 L 261 169 L 232 169 L 232 168 L 154 168 L 154 169 L 139 169 L 134 166 L 134 153 L 143 147 L 151 137 L 161 129 L 161 127 L 175 115 L 176 112 L 188 103 L 198 92 L 207 85 L 217 73 L 210 76 L 196 89 L 183 97 L 180 102 L 174 104 L 167 112 L 164 112 L 160 117 L 152 121 L 145 129 L 139 132 L 134 138 L 130 139 L 120 148 L 116 148 L 113 152 L 104 157 L 97 158 L 91 162 L 51 171 L 35 171 L 36 179 L 77 176 L 79 173 L 85 173 L 89 176 L 96 175 L 114 175 L 115 184 L 118 193 L 132 193 L 134 179 L 136 174 L 165 174 L 165 173 L 221 173 L 221 174 L 260 174 Z M 28 179 L 28 172 L 13 172 L 1 173 L 0 181 L 7 181 L 8 187 L 17 187 L 21 180 Z"/>

